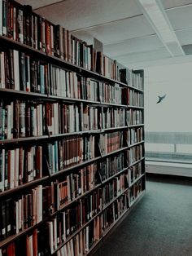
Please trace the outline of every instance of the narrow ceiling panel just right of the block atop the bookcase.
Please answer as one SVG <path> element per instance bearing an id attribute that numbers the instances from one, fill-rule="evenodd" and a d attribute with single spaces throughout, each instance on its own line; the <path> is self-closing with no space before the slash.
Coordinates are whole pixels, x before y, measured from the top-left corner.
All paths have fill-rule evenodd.
<path id="1" fill-rule="evenodd" d="M 152 35 L 146 38 L 133 38 L 124 40 L 123 42 L 104 45 L 103 50 L 106 55 L 116 58 L 116 56 L 131 52 L 154 51 L 163 46 L 157 35 Z"/>

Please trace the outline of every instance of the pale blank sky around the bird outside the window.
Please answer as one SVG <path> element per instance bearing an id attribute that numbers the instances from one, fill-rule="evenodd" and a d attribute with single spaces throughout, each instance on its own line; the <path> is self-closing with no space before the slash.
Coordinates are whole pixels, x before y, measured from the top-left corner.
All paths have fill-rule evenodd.
<path id="1" fill-rule="evenodd" d="M 145 130 L 191 132 L 192 63 L 145 68 L 144 74 Z"/>

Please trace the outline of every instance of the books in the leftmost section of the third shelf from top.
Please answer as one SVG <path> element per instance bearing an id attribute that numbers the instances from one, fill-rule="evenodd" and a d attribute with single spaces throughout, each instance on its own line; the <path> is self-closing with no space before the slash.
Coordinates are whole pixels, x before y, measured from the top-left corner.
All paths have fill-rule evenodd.
<path id="1" fill-rule="evenodd" d="M 0 139 L 46 134 L 46 105 L 0 99 Z"/>

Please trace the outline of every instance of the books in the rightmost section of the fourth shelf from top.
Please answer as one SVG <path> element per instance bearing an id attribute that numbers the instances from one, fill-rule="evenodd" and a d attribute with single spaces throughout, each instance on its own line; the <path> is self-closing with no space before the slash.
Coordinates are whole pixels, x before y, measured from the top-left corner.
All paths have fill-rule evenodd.
<path id="1" fill-rule="evenodd" d="M 143 140 L 143 127 L 133 127 L 126 131 L 126 140 L 129 145 L 138 143 Z"/>

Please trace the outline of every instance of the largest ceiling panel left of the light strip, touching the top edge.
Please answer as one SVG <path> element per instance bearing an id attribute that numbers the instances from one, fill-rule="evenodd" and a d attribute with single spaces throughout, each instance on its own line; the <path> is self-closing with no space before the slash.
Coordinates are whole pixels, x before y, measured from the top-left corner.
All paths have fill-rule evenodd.
<path id="1" fill-rule="evenodd" d="M 141 9 L 135 0 L 121 0 L 118 4 L 116 0 L 66 0 L 38 9 L 37 13 L 74 30 L 140 15 Z"/>

